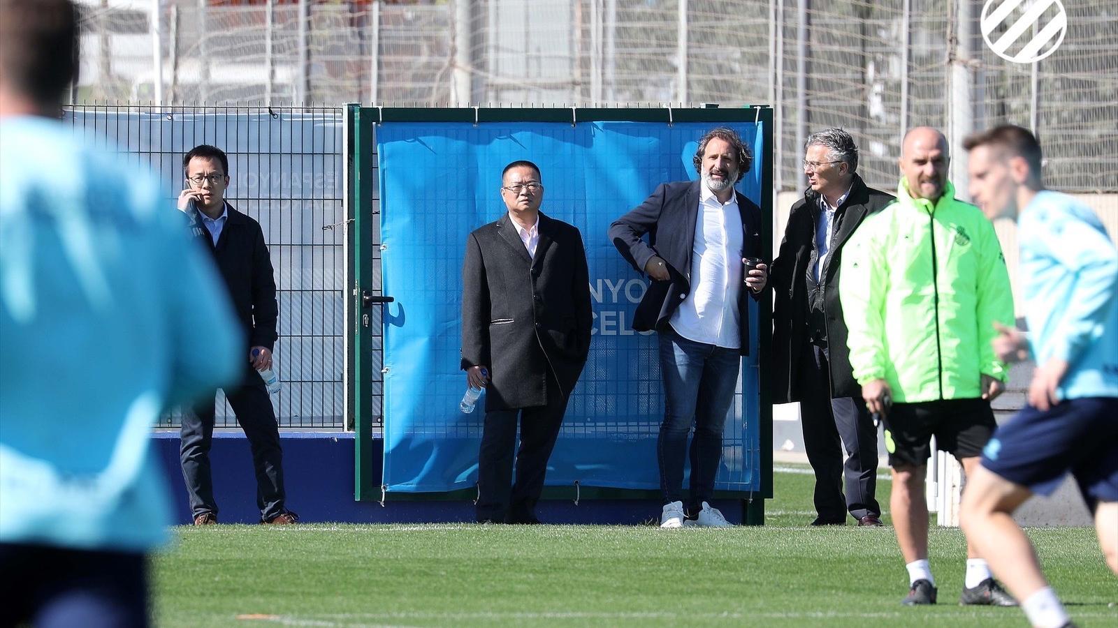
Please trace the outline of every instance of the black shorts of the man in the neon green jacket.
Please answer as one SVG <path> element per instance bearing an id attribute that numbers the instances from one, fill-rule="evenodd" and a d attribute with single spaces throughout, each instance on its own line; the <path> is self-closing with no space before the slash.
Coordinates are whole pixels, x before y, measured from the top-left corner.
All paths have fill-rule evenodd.
<path id="1" fill-rule="evenodd" d="M 936 447 L 960 460 L 982 454 L 997 424 L 985 399 L 946 399 L 893 403 L 885 416 L 889 465 L 922 466 Z"/>

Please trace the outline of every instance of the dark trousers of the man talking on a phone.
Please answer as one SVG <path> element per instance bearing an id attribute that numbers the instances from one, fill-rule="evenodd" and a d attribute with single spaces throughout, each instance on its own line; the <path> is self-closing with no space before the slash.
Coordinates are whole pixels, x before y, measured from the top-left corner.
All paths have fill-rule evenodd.
<path id="1" fill-rule="evenodd" d="M 214 498 L 214 479 L 210 474 L 209 451 L 214 441 L 214 396 L 184 408 L 182 411 L 179 460 L 182 463 L 182 478 L 187 482 L 190 511 L 193 516 L 218 512 Z M 267 521 L 284 508 L 283 449 L 280 447 L 280 427 L 267 389 L 256 371 L 245 374 L 240 388 L 226 390 L 226 399 L 237 416 L 240 429 L 248 437 L 253 451 L 253 468 L 256 470 L 256 505 L 260 508 L 260 520 Z"/>

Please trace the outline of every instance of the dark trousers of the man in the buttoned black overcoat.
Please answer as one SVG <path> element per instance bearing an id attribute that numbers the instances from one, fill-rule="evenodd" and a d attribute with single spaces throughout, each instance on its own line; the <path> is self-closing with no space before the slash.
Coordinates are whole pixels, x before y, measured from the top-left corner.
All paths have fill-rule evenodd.
<path id="1" fill-rule="evenodd" d="M 548 458 L 555 448 L 568 397 L 548 378 L 547 406 L 485 412 L 477 454 L 477 521 L 537 523 Z M 520 447 L 517 422 L 520 419 Z M 517 479 L 512 480 L 513 450 Z"/>

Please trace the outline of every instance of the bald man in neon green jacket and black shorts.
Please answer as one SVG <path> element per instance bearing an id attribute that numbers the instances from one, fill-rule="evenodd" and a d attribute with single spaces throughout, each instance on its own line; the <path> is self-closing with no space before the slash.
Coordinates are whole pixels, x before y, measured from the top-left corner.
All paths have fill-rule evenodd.
<path id="1" fill-rule="evenodd" d="M 955 198 L 947 140 L 908 132 L 897 202 L 870 216 L 843 249 L 839 294 L 850 363 L 866 407 L 885 422 L 890 506 L 909 572 L 904 605 L 936 603 L 923 485 L 930 439 L 968 475 L 996 427 L 1004 389 L 994 323 L 1013 324 L 1005 258 L 982 211 Z M 1014 606 L 968 549 L 961 603 Z"/>

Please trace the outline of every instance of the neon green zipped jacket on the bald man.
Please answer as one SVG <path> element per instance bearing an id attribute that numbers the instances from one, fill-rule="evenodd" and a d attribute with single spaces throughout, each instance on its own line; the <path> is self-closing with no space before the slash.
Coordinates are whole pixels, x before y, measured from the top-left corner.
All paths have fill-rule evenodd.
<path id="1" fill-rule="evenodd" d="M 991 341 L 1013 326 L 1013 295 L 994 226 L 955 199 L 909 196 L 865 219 L 843 247 L 839 294 L 850 363 L 865 386 L 884 379 L 896 402 L 982 397 L 982 375 L 1005 381 Z"/>

